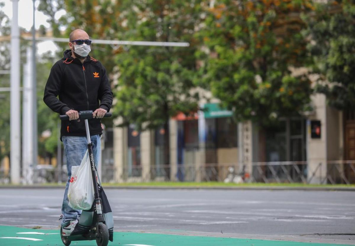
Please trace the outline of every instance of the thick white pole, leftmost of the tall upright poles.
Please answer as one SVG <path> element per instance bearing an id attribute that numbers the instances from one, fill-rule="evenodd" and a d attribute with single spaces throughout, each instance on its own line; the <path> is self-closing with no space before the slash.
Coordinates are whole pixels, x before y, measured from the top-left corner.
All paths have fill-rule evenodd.
<path id="1" fill-rule="evenodd" d="M 10 177 L 20 183 L 20 29 L 18 0 L 12 0 L 11 22 L 11 94 L 10 94 Z"/>

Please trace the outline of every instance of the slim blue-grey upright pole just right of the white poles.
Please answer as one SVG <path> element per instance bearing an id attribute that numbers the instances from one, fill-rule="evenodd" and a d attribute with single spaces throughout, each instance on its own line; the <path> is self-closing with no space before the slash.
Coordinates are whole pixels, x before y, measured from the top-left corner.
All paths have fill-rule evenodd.
<path id="1" fill-rule="evenodd" d="M 37 165 L 38 158 L 38 136 L 37 136 L 37 76 L 36 76 L 36 29 L 34 25 L 34 13 L 35 13 L 35 1 L 33 0 L 33 27 L 32 27 L 32 124 L 33 124 L 33 135 L 32 135 L 32 146 L 33 146 L 33 167 Z"/>

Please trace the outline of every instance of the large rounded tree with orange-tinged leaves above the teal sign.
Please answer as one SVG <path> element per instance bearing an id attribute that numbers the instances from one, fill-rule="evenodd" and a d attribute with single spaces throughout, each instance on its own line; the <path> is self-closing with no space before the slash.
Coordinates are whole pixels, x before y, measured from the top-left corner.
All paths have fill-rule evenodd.
<path id="1" fill-rule="evenodd" d="M 206 49 L 197 52 L 201 83 L 210 86 L 239 121 L 269 125 L 297 115 L 312 93 L 307 74 L 294 75 L 307 60 L 308 0 L 215 1 L 198 34 Z"/>

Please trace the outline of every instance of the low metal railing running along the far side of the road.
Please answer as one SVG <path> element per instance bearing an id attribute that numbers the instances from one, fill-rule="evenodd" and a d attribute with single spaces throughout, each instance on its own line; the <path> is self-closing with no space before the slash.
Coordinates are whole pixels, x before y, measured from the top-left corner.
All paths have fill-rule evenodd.
<path id="1" fill-rule="evenodd" d="M 326 173 L 322 174 L 327 165 Z M 311 172 L 307 169 L 307 162 L 255 162 L 252 163 L 252 172 L 247 173 L 245 165 L 237 164 L 178 164 L 152 165 L 147 170 L 142 166 L 123 168 L 121 177 L 123 181 L 222 181 L 222 182 L 261 182 L 261 183 L 315 183 L 321 184 L 355 184 L 355 161 L 328 161 L 319 163 Z M 61 180 L 66 181 L 66 167 L 63 166 Z M 34 170 L 35 183 L 56 182 L 58 174 L 54 168 L 39 168 Z M 324 171 L 323 171 L 324 172 Z M 116 168 L 113 165 L 103 166 L 102 181 L 112 183 L 115 181 Z M 319 177 L 322 177 L 319 180 Z M 9 183 L 9 175 L 0 169 L 0 184 Z"/>

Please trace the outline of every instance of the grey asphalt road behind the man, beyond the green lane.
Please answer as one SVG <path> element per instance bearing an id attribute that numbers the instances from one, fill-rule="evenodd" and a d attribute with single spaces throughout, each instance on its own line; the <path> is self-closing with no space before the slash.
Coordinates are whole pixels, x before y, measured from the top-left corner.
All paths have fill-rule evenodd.
<path id="1" fill-rule="evenodd" d="M 198 231 L 355 240 L 347 191 L 105 190 L 119 231 Z M 0 189 L 0 225 L 60 225 L 62 189 Z"/>

